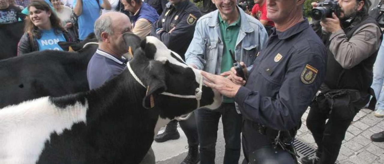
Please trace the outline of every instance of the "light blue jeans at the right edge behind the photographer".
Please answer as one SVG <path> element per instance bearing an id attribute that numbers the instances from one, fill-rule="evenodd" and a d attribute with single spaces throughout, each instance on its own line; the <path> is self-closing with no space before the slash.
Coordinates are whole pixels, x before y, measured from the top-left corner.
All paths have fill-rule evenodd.
<path id="1" fill-rule="evenodd" d="M 383 35 L 384 36 L 384 35 Z M 384 92 L 381 92 L 384 82 L 384 41 L 381 42 L 377 58 L 373 66 L 373 82 L 371 88 L 375 91 L 377 108 L 384 109 Z"/>

